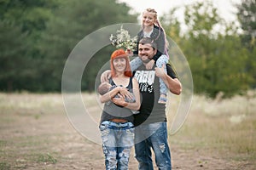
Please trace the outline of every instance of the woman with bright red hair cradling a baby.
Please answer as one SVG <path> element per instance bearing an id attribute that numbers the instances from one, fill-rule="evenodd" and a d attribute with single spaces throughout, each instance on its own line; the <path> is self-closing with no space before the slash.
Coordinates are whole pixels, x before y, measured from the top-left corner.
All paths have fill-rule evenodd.
<path id="1" fill-rule="evenodd" d="M 140 108 L 140 93 L 138 82 L 132 77 L 130 60 L 125 50 L 117 49 L 113 52 L 110 67 L 112 77 L 109 83 L 116 88 L 100 96 L 102 103 L 111 101 L 104 105 L 100 122 L 105 166 L 106 169 L 128 169 L 134 144 L 132 111 Z M 133 103 L 125 101 L 125 98 L 131 98 L 131 93 L 135 97 Z M 116 95 L 119 98 L 115 98 Z"/>

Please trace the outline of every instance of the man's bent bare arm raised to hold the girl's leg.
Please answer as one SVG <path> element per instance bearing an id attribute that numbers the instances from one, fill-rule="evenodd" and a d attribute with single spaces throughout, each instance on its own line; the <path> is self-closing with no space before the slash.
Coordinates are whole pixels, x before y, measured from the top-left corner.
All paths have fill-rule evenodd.
<path id="1" fill-rule="evenodd" d="M 167 65 L 168 66 L 168 65 Z M 155 67 L 155 75 L 160 77 L 166 84 L 166 87 L 172 92 L 172 94 L 181 94 L 182 84 L 179 82 L 177 77 L 171 77 L 165 72 L 166 65 L 163 65 L 161 68 Z"/>

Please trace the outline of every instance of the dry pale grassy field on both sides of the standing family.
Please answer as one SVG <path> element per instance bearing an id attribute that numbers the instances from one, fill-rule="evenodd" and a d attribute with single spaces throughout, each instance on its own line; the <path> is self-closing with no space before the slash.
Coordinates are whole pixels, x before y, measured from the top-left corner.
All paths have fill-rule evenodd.
<path id="1" fill-rule="evenodd" d="M 95 95 L 82 98 L 98 121 Z M 174 112 L 176 98 L 170 99 Z M 61 94 L 0 94 L 0 116 L 0 170 L 104 169 L 102 146 L 75 130 Z M 169 141 L 173 169 L 256 169 L 255 92 L 232 99 L 195 95 L 186 122 Z M 134 150 L 130 169 L 137 169 Z"/>

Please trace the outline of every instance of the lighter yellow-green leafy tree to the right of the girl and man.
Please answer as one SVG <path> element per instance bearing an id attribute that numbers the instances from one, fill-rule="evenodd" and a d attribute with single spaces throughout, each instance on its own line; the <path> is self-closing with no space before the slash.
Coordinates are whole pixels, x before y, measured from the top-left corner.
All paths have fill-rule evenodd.
<path id="1" fill-rule="evenodd" d="M 168 31 L 174 41 L 177 39 L 189 61 L 195 93 L 212 98 L 219 92 L 223 92 L 224 97 L 241 94 L 253 81 L 246 70 L 247 48 L 241 45 L 240 37 L 230 35 L 230 32 L 237 32 L 231 30 L 236 28 L 227 25 L 225 32 L 216 31 L 215 27 L 223 23 L 221 21 L 212 3 L 195 3 L 187 6 L 184 12 L 188 31 L 183 39 L 172 34 L 179 25 L 171 25 L 171 31 Z"/>

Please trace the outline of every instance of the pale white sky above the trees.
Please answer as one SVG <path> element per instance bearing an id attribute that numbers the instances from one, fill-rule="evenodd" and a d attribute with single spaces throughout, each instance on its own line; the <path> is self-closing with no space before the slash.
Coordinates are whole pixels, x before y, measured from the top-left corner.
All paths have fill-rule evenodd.
<path id="1" fill-rule="evenodd" d="M 203 0 L 118 0 L 119 2 L 126 3 L 133 8 L 133 11 L 142 14 L 145 8 L 154 8 L 158 15 L 168 13 L 173 7 L 183 7 L 195 2 L 203 2 Z M 236 8 L 233 3 L 241 3 L 241 0 L 211 0 L 213 6 L 218 8 L 219 15 L 227 22 L 236 21 Z M 182 14 L 182 11 L 180 11 Z"/>

